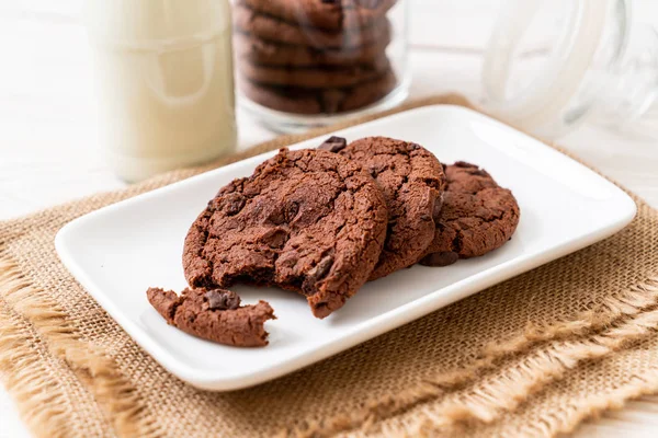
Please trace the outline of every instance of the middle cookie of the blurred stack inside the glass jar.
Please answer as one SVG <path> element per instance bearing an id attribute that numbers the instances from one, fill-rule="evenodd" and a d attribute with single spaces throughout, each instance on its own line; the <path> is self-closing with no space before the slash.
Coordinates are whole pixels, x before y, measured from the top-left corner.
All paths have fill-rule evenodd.
<path id="1" fill-rule="evenodd" d="M 317 49 L 307 46 L 292 46 L 260 39 L 248 33 L 234 34 L 236 57 L 241 62 L 249 61 L 261 66 L 286 67 L 374 67 L 382 70 L 386 65 L 386 47 L 390 36 L 384 35 L 372 44 L 345 49 Z"/>

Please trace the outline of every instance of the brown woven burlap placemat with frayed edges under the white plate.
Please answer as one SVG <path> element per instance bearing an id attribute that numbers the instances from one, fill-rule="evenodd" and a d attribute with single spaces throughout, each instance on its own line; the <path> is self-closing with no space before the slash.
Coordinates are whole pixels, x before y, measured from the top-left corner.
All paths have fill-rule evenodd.
<path id="1" fill-rule="evenodd" d="M 398 111 L 435 103 L 468 106 L 446 95 Z M 53 242 L 71 219 L 201 171 L 0 223 L 0 373 L 35 435 L 553 436 L 658 391 L 658 212 L 637 197 L 614 237 L 331 359 L 230 393 L 186 385 L 99 308 Z"/>

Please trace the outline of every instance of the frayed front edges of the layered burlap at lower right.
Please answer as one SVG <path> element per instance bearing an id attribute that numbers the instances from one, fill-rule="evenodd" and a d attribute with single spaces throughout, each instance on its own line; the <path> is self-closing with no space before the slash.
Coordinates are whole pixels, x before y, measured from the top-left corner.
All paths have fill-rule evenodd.
<path id="1" fill-rule="evenodd" d="M 468 396 L 441 405 L 439 412 L 420 408 L 404 429 L 387 429 L 386 435 L 423 436 L 462 423 L 492 423 L 501 413 L 513 412 L 532 394 L 586 360 L 603 358 L 655 334 L 658 330 L 658 278 L 617 297 L 610 297 L 595 309 L 578 318 L 540 325 L 529 323 L 525 331 L 510 339 L 483 348 L 470 365 L 428 378 L 413 388 L 385 399 L 371 400 L 360 411 L 324 422 L 307 423 L 282 436 L 326 437 L 359 430 L 376 433 L 377 423 L 404 414 L 412 407 L 447 396 L 464 389 L 476 378 L 484 380 Z M 533 348 L 536 351 L 532 351 Z M 519 364 L 506 368 L 502 376 L 487 379 L 486 373 L 504 359 L 532 351 Z M 575 425 L 574 425 L 575 426 Z"/>

